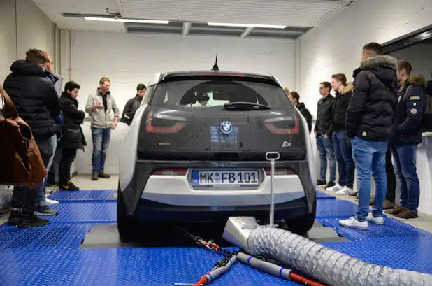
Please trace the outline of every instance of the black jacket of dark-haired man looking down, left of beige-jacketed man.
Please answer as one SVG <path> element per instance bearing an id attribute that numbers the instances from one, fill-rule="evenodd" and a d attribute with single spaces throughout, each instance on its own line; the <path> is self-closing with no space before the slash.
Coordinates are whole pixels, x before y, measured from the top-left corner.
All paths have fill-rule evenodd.
<path id="1" fill-rule="evenodd" d="M 87 143 L 80 124 L 84 121 L 85 113 L 78 110 L 78 101 L 67 92 L 63 92 L 59 101 L 64 117 L 62 148 L 83 149 Z"/>

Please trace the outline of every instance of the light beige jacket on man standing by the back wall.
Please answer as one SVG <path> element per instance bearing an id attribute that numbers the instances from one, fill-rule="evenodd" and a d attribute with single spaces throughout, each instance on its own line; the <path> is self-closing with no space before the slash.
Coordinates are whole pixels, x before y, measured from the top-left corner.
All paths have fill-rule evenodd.
<path id="1" fill-rule="evenodd" d="M 99 88 L 89 95 L 89 99 L 87 99 L 87 104 L 85 105 L 85 112 L 90 115 L 92 128 L 109 128 L 113 124 L 114 117 L 119 117 L 120 110 L 117 108 L 117 103 L 115 103 L 110 93 L 107 95 L 106 103 L 106 112 L 105 109 L 92 110 L 92 106 L 98 104 L 103 106 L 103 98 L 101 92 L 99 92 Z"/>

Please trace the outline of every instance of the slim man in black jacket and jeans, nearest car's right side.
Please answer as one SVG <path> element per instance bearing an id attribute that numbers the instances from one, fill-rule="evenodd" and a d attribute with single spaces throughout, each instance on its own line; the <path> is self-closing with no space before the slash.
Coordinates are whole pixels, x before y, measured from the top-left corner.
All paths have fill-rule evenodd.
<path id="1" fill-rule="evenodd" d="M 334 97 L 330 94 L 331 83 L 325 81 L 319 85 L 317 122 L 315 123 L 315 138 L 319 152 L 319 179 L 317 185 L 326 185 L 327 161 L 330 164 L 330 180 L 326 188 L 333 187 L 336 179 L 336 160 L 331 143 L 331 119 L 333 118 Z"/>

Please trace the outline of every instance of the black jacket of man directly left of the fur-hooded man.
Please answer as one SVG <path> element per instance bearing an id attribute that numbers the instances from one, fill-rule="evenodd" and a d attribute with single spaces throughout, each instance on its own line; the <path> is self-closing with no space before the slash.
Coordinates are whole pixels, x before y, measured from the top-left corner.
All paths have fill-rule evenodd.
<path id="1" fill-rule="evenodd" d="M 348 83 L 340 93 L 336 93 L 333 103 L 333 120 L 330 132 L 345 131 L 345 116 L 352 96 L 353 83 Z"/>

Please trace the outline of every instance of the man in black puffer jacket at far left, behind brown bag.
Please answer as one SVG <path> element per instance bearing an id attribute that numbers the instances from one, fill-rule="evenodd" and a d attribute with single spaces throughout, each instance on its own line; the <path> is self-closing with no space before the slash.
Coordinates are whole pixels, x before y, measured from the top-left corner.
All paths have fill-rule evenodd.
<path id="1" fill-rule="evenodd" d="M 60 108 L 54 84 L 44 72 L 48 62 L 49 59 L 41 50 L 28 50 L 26 60 L 18 60 L 12 64 L 12 73 L 7 76 L 3 87 L 20 117 L 29 124 L 45 168 L 49 170 L 57 146 L 58 127 L 54 118 L 60 115 Z M 58 211 L 52 210 L 47 201 L 38 200 L 38 194 L 45 188 L 45 180 L 30 188 L 14 187 L 10 224 L 18 227 L 38 227 L 48 224 L 48 220 L 41 220 L 36 215 L 57 215 Z"/>

